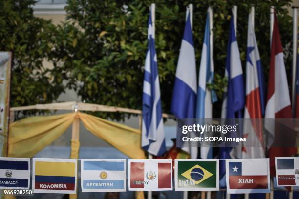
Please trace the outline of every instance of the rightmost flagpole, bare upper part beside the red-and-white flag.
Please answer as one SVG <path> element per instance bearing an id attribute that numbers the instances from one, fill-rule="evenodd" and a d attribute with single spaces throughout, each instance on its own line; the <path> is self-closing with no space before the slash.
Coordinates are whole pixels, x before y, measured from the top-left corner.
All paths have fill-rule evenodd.
<path id="1" fill-rule="evenodd" d="M 297 6 L 293 6 L 293 67 L 292 67 L 292 109 L 295 113 L 295 88 L 296 88 L 296 55 L 297 55 Z"/>

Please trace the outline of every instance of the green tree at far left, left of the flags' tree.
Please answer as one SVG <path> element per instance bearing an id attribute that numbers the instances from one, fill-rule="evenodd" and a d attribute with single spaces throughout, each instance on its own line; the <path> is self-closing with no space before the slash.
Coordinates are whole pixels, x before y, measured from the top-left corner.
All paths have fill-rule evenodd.
<path id="1" fill-rule="evenodd" d="M 55 26 L 49 20 L 33 16 L 34 0 L 0 0 L 0 50 L 13 55 L 11 106 L 51 103 L 64 87 L 43 67 L 51 60 Z M 22 115 L 33 114 L 23 112 Z"/>

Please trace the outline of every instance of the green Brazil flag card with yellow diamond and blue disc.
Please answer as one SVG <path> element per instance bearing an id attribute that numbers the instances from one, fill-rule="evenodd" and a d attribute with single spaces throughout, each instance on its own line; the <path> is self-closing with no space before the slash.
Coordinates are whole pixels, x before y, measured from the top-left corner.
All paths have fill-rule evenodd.
<path id="1" fill-rule="evenodd" d="M 219 159 L 176 159 L 175 191 L 219 191 Z"/>

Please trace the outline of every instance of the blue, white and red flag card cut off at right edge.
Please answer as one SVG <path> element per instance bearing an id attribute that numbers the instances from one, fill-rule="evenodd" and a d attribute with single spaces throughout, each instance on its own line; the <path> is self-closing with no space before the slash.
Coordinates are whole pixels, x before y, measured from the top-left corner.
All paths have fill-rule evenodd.
<path id="1" fill-rule="evenodd" d="M 276 157 L 277 186 L 299 186 L 299 157 Z"/>

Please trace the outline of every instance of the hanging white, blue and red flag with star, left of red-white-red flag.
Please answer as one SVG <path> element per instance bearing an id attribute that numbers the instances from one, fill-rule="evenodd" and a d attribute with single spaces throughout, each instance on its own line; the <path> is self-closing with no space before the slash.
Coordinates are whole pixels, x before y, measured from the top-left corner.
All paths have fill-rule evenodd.
<path id="1" fill-rule="evenodd" d="M 242 158 L 265 158 L 261 120 L 264 112 L 265 84 L 252 20 L 253 18 L 249 14 L 244 118 L 250 118 L 251 120 L 245 120 L 243 126 L 243 134 L 246 142 L 242 147 Z"/>

